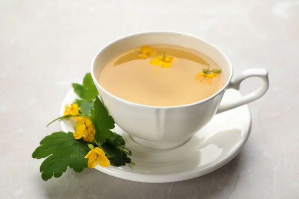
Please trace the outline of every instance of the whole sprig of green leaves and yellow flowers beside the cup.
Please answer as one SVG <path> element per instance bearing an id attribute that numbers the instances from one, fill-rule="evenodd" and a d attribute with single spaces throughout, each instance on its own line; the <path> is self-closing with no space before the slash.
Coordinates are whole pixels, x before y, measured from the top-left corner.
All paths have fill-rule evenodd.
<path id="1" fill-rule="evenodd" d="M 47 181 L 59 178 L 70 167 L 75 172 L 84 168 L 123 166 L 134 164 L 128 157 L 132 155 L 124 145 L 121 135 L 112 132 L 115 121 L 97 97 L 98 91 L 91 74 L 87 73 L 83 84 L 72 84 L 80 99 L 66 104 L 64 115 L 51 121 L 72 120 L 75 133 L 54 132 L 40 142 L 32 153 L 32 158 L 46 158 L 40 166 L 41 178 Z M 48 125 L 49 125 L 48 124 Z"/>

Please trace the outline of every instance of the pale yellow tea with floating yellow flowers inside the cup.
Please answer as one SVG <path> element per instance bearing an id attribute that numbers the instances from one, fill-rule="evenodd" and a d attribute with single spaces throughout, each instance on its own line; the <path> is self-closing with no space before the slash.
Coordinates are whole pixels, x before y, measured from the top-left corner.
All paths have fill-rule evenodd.
<path id="1" fill-rule="evenodd" d="M 207 73 L 207 69 L 217 74 Z M 103 67 L 99 83 L 116 97 L 151 106 L 204 100 L 224 85 L 220 68 L 210 58 L 173 46 L 146 46 L 124 52 Z"/>

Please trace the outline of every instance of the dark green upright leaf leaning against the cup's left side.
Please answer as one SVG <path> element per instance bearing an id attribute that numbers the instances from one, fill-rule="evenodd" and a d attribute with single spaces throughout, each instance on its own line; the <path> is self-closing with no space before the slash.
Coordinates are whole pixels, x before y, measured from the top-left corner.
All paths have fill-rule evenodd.
<path id="1" fill-rule="evenodd" d="M 98 97 L 96 97 L 94 102 L 94 110 L 91 111 L 91 122 L 96 130 L 96 140 L 103 143 L 105 142 L 105 138 L 113 136 L 113 132 L 110 129 L 115 127 L 115 121 L 112 116 L 108 114 L 106 107 Z"/>

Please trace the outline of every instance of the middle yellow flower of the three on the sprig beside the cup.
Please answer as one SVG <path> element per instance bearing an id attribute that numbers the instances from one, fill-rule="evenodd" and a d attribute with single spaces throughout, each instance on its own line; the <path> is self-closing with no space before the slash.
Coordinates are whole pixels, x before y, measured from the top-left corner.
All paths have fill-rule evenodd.
<path id="1" fill-rule="evenodd" d="M 95 138 L 95 127 L 92 125 L 89 117 L 82 118 L 74 133 L 75 139 L 80 139 L 83 136 L 84 141 L 91 142 Z"/>

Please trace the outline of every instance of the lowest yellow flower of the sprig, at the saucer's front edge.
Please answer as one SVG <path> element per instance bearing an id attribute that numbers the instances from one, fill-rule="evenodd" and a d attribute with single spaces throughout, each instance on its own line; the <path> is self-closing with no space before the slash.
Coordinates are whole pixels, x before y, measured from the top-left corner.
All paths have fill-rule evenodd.
<path id="1" fill-rule="evenodd" d="M 95 168 L 97 164 L 101 165 L 102 167 L 108 167 L 110 165 L 110 161 L 105 156 L 105 153 L 99 147 L 96 147 L 88 152 L 88 154 L 84 157 L 88 158 L 88 167 Z"/>

